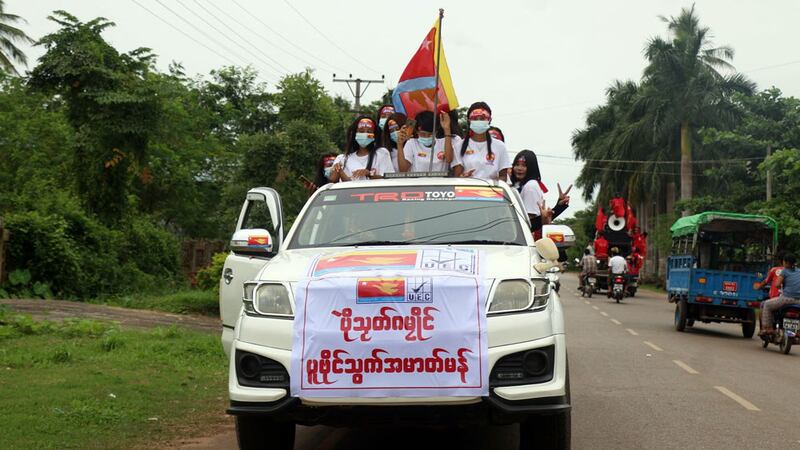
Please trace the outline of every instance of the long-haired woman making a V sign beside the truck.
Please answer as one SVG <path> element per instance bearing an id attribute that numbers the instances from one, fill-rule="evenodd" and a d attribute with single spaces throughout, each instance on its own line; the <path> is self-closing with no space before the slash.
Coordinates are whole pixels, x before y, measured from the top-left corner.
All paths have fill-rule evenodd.
<path id="1" fill-rule="evenodd" d="M 547 187 L 542 183 L 539 161 L 536 159 L 536 154 L 530 150 L 523 150 L 514 157 L 514 167 L 509 180 L 522 197 L 522 204 L 525 205 L 525 210 L 531 219 L 534 238 L 540 239 L 542 226 L 550 223 L 569 207 L 569 191 L 572 185 L 564 192 L 561 191 L 561 185 L 558 185 L 558 202 L 555 208 L 549 209 L 544 200 Z"/>

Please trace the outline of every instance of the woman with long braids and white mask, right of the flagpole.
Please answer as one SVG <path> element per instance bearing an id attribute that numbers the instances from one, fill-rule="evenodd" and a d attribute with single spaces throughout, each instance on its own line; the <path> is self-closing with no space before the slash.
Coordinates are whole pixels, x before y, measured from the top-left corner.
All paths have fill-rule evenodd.
<path id="1" fill-rule="evenodd" d="M 506 180 L 511 161 L 503 141 L 493 140 L 488 133 L 492 109 L 484 102 L 473 103 L 467 110 L 469 137 L 464 139 L 453 160 L 456 176 L 484 180 Z"/>

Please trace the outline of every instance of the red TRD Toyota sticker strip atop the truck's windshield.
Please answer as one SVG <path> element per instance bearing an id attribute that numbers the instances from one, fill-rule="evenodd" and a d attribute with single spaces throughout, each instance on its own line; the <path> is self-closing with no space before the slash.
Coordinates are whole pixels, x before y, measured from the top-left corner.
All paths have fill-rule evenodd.
<path id="1" fill-rule="evenodd" d="M 490 186 L 426 186 L 410 188 L 359 189 L 339 197 L 339 203 L 505 201 L 500 188 Z"/>

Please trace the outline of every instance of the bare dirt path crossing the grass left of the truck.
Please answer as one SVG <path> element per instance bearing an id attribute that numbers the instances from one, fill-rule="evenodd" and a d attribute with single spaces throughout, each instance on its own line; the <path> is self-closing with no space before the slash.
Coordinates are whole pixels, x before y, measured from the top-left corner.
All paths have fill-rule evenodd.
<path id="1" fill-rule="evenodd" d="M 127 309 L 117 306 L 94 305 L 66 300 L 2 299 L 0 305 L 37 319 L 63 320 L 70 317 L 119 322 L 123 327 L 155 328 L 178 325 L 197 331 L 219 333 L 219 318 L 173 314 L 161 311 Z"/>

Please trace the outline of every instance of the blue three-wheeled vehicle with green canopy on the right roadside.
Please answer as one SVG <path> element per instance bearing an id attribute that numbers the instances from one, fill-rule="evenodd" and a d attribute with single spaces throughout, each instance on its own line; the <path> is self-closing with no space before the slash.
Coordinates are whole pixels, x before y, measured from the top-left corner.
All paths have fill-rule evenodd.
<path id="1" fill-rule="evenodd" d="M 756 310 L 766 293 L 753 284 L 769 270 L 778 225 L 768 216 L 704 212 L 678 219 L 670 229 L 667 292 L 675 303 L 675 329 L 695 321 L 738 323 L 753 337 Z"/>

